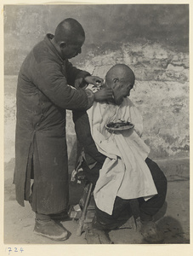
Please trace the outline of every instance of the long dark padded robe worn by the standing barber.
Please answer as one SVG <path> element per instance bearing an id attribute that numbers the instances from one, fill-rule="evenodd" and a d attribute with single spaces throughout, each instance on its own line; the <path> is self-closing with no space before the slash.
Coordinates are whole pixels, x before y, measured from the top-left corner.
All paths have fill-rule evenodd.
<path id="1" fill-rule="evenodd" d="M 73 86 L 75 79 L 89 73 L 62 60 L 51 38 L 53 35 L 48 34 L 27 55 L 20 68 L 16 96 L 16 200 L 24 206 L 33 175 L 32 209 L 44 214 L 60 212 L 68 203 L 65 109 L 88 108 L 85 90 L 67 84 Z"/>

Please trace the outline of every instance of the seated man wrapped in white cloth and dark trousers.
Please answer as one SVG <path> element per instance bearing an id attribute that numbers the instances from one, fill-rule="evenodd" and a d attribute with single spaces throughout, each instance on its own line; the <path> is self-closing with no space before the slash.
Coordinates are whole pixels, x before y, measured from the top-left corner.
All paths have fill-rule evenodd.
<path id="1" fill-rule="evenodd" d="M 141 115 L 128 96 L 134 84 L 133 71 L 117 64 L 106 73 L 105 84 L 114 96 L 109 102 L 95 102 L 88 113 L 74 113 L 77 139 L 84 148 L 82 167 L 94 183 L 96 218 L 94 230 L 112 230 L 117 219 L 138 199 L 141 234 L 146 241 L 162 240 L 153 216 L 162 207 L 167 179 L 156 163 L 148 158 L 150 148 L 141 139 Z M 132 129 L 110 131 L 111 122 L 130 122 Z M 89 122 L 89 123 L 88 123 Z"/>

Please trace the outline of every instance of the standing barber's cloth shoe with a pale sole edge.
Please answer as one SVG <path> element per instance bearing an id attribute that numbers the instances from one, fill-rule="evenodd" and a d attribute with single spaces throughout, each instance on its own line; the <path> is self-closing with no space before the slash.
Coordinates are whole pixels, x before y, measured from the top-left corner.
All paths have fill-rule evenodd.
<path id="1" fill-rule="evenodd" d="M 55 241 L 64 241 L 68 238 L 68 232 L 65 228 L 60 227 L 54 220 L 36 219 L 34 233 L 38 236 L 46 236 Z"/>

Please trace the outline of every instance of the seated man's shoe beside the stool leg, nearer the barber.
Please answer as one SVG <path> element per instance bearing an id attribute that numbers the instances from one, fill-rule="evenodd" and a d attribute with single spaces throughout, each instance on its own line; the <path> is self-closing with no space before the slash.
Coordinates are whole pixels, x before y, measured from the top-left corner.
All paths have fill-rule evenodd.
<path id="1" fill-rule="evenodd" d="M 88 244 L 113 244 L 107 232 L 89 228 L 85 230 L 85 239 Z"/>

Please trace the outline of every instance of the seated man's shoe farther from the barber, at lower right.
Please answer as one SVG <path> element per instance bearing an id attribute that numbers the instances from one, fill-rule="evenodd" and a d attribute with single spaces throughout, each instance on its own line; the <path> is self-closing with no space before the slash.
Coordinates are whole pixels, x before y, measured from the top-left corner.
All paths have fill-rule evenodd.
<path id="1" fill-rule="evenodd" d="M 161 243 L 164 240 L 161 230 L 153 221 L 141 222 L 140 232 L 149 243 Z"/>

